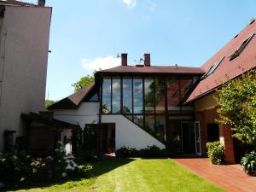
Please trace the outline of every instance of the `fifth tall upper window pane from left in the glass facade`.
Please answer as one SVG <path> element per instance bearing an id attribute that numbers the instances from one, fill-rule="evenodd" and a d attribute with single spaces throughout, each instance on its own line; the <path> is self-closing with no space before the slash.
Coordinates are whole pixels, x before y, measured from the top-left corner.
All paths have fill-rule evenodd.
<path id="1" fill-rule="evenodd" d="M 144 79 L 145 113 L 154 113 L 154 79 Z"/>

